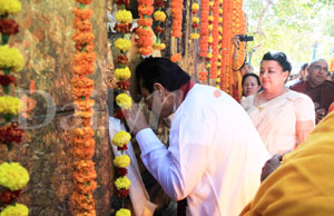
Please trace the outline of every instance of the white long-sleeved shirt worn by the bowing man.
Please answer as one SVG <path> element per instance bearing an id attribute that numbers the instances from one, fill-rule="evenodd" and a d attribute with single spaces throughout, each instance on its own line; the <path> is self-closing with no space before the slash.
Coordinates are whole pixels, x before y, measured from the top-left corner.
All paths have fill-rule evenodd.
<path id="1" fill-rule="evenodd" d="M 245 110 L 216 88 L 195 85 L 175 112 L 169 148 L 151 129 L 136 136 L 147 169 L 193 216 L 234 216 L 255 195 L 269 158 Z"/>

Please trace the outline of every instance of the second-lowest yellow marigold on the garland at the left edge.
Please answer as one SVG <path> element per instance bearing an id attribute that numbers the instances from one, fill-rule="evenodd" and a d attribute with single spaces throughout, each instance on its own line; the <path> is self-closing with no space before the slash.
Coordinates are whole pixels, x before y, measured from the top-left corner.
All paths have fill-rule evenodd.
<path id="1" fill-rule="evenodd" d="M 19 190 L 26 187 L 29 174 L 19 163 L 2 163 L 0 165 L 0 185 L 10 190 Z"/>

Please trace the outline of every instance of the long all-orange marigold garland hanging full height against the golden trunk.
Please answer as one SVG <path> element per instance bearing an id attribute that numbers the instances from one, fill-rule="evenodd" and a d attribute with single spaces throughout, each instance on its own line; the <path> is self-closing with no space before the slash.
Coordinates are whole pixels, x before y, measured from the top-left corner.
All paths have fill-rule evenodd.
<path id="1" fill-rule="evenodd" d="M 92 192 L 97 187 L 97 177 L 91 160 L 95 154 L 94 130 L 91 129 L 91 118 L 94 115 L 95 101 L 90 99 L 94 91 L 94 80 L 86 77 L 95 71 L 96 55 L 94 52 L 95 36 L 92 24 L 89 19 L 94 12 L 86 6 L 92 0 L 76 0 L 79 8 L 72 9 L 75 14 L 73 28 L 76 29 L 72 39 L 76 46 L 76 53 L 72 58 L 71 79 L 72 96 L 75 98 L 75 118 L 77 127 L 72 129 L 72 156 L 73 156 L 73 179 L 75 192 L 70 197 L 75 215 L 95 216 L 95 202 Z"/>

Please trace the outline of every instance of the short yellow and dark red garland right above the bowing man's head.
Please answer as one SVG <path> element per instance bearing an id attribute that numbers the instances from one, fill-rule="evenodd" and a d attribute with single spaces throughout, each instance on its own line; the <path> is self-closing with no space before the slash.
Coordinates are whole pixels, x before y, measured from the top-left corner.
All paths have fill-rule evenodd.
<path id="1" fill-rule="evenodd" d="M 166 48 L 165 43 L 161 43 L 161 33 L 164 32 L 164 28 L 161 26 L 163 22 L 166 20 L 166 13 L 163 11 L 163 8 L 165 7 L 165 2 L 163 0 L 157 0 L 155 2 L 155 7 L 158 8 L 158 10 L 154 13 L 154 19 L 157 22 L 155 28 L 155 33 L 157 35 L 156 42 L 153 45 L 153 48 L 156 50 L 164 50 Z"/>

